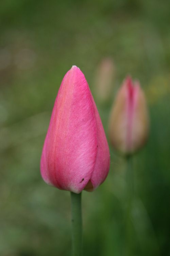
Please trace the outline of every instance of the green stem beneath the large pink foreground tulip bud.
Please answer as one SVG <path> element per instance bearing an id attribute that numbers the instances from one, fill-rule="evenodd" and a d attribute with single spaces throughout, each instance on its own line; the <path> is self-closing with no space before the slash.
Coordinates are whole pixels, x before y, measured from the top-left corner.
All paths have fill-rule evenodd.
<path id="1" fill-rule="evenodd" d="M 71 192 L 72 256 L 82 255 L 81 194 Z"/>

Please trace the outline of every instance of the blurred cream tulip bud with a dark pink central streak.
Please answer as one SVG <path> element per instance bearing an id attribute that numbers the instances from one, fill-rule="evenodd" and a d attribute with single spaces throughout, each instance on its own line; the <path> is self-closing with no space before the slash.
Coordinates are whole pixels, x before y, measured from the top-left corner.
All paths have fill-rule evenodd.
<path id="1" fill-rule="evenodd" d="M 139 82 L 127 77 L 119 89 L 109 120 L 109 136 L 113 146 L 131 154 L 146 142 L 149 118 L 145 95 Z"/>

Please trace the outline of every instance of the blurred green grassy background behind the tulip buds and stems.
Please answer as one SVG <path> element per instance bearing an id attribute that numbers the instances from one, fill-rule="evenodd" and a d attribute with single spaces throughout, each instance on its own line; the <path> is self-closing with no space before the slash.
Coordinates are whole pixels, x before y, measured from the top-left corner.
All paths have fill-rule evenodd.
<path id="1" fill-rule="evenodd" d="M 105 57 L 115 68 L 112 96 L 101 102 L 94 81 Z M 70 255 L 70 193 L 44 183 L 39 161 L 72 65 L 86 76 L 106 135 L 122 80 L 140 80 L 151 129 L 133 157 L 131 256 L 170 255 L 169 0 L 0 2 L 0 255 Z M 110 151 L 106 181 L 83 191 L 84 255 L 128 256 L 125 160 Z"/>

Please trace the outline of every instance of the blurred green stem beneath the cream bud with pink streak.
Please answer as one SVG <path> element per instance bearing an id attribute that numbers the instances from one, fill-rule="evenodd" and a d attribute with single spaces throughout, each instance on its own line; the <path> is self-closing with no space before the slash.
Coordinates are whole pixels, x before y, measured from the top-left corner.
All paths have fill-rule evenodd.
<path id="1" fill-rule="evenodd" d="M 134 197 L 134 177 L 132 156 L 126 157 L 126 255 L 133 256 L 133 225 L 132 225 L 132 204 Z"/>

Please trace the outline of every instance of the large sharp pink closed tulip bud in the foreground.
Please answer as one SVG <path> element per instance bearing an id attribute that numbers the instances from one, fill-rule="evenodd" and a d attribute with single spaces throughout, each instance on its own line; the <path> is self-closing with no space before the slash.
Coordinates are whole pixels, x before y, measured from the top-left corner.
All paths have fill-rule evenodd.
<path id="1" fill-rule="evenodd" d="M 81 70 L 73 66 L 56 97 L 41 155 L 44 181 L 59 189 L 92 191 L 106 178 L 109 148 L 102 122 Z"/>

